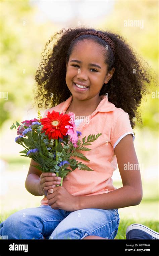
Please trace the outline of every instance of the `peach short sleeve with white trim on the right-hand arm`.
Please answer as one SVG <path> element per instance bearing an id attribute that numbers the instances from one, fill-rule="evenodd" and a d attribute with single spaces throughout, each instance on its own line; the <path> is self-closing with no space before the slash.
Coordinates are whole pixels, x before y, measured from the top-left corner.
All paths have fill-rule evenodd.
<path id="1" fill-rule="evenodd" d="M 129 115 L 128 113 L 124 112 L 117 118 L 115 125 L 112 128 L 112 132 L 110 135 L 110 143 L 113 146 L 113 149 L 115 149 L 119 141 L 127 134 L 133 134 L 134 141 L 135 134 L 133 132 L 133 129 L 131 128 Z"/>

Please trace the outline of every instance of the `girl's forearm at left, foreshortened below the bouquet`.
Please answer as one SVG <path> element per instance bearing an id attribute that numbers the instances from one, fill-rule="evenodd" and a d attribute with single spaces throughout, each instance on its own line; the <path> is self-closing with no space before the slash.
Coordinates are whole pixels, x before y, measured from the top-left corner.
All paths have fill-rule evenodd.
<path id="1" fill-rule="evenodd" d="M 40 177 L 35 173 L 30 173 L 25 181 L 25 188 L 34 196 L 43 196 L 40 186 Z"/>

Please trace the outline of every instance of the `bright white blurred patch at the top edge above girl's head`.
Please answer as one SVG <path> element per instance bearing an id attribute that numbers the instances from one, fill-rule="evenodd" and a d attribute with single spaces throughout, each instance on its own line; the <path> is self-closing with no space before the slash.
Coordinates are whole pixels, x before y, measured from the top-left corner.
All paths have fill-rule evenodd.
<path id="1" fill-rule="evenodd" d="M 50 19 L 54 23 L 73 22 L 73 19 L 79 21 L 95 23 L 97 19 L 105 18 L 112 12 L 115 1 L 30 1 L 32 6 L 36 5 L 41 15 L 36 17 L 39 22 L 45 22 Z"/>

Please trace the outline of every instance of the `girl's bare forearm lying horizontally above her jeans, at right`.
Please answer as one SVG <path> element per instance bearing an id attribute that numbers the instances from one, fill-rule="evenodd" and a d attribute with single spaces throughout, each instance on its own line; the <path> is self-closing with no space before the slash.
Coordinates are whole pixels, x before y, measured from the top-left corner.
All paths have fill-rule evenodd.
<path id="1" fill-rule="evenodd" d="M 138 205 L 141 196 L 130 186 L 123 186 L 108 193 L 92 196 L 78 196 L 77 210 L 87 208 L 118 209 Z"/>

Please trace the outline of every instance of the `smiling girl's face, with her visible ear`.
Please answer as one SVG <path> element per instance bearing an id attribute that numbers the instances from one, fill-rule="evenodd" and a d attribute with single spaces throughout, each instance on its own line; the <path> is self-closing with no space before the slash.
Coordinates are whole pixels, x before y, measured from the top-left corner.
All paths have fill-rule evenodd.
<path id="1" fill-rule="evenodd" d="M 74 47 L 66 63 L 66 84 L 78 100 L 98 97 L 103 84 L 111 79 L 115 68 L 107 72 L 104 51 L 106 50 L 103 46 L 92 40 L 81 41 Z M 74 83 L 88 88 L 79 89 Z"/>

